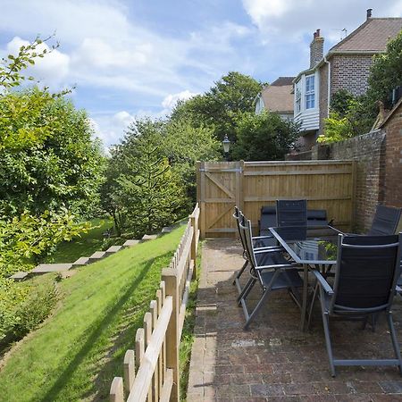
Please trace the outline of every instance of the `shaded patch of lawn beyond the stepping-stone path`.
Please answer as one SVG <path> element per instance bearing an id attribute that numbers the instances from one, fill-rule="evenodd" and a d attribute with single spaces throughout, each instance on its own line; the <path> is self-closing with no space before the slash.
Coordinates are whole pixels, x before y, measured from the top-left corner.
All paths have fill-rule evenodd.
<path id="1" fill-rule="evenodd" d="M 89 256 L 102 249 L 103 233 L 113 227 L 112 219 L 93 219 L 90 221 L 94 229 L 83 233 L 80 237 L 59 244 L 45 263 L 73 263 L 81 256 Z"/>

